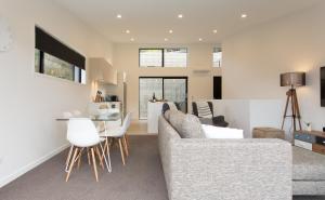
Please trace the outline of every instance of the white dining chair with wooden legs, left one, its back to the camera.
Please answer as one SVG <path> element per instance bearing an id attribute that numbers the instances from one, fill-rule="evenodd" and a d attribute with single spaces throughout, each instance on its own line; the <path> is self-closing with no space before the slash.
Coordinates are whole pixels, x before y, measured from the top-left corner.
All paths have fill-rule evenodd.
<path id="1" fill-rule="evenodd" d="M 93 122 L 90 119 L 70 118 L 68 122 L 68 129 L 67 129 L 67 139 L 74 146 L 75 151 L 69 164 L 69 170 L 66 175 L 66 182 L 69 179 L 75 163 L 77 161 L 80 162 L 80 157 L 84 148 L 89 148 L 91 150 L 92 164 L 93 164 L 96 182 L 99 181 L 99 176 L 98 176 L 98 169 L 96 169 L 96 161 L 95 161 L 95 152 L 102 163 L 102 155 L 100 154 L 98 146 L 101 147 L 102 154 L 104 155 L 105 164 L 107 166 L 108 172 L 110 172 L 109 155 L 108 155 L 108 162 L 109 162 L 108 164 L 104 154 L 104 149 L 101 145 L 101 138 L 99 132 L 96 131 L 96 128 L 94 126 Z"/>

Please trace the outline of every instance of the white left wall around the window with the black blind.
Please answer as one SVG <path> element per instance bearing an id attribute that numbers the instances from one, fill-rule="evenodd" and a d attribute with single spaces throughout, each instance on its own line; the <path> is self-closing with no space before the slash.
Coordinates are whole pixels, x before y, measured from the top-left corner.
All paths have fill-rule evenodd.
<path id="1" fill-rule="evenodd" d="M 58 152 L 67 143 L 65 125 L 55 118 L 65 110 L 83 110 L 90 99 L 90 80 L 81 85 L 34 72 L 35 25 L 87 57 L 112 62 L 112 45 L 51 1 L 0 0 L 0 16 L 8 19 L 14 38 L 11 50 L 0 53 L 1 187 Z"/>

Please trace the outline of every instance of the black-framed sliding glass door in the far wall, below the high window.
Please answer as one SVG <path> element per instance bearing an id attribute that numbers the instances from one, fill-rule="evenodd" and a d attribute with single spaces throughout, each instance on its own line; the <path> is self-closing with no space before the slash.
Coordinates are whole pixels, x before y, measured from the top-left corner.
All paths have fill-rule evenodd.
<path id="1" fill-rule="evenodd" d="M 174 102 L 187 112 L 187 77 L 140 77 L 139 118 L 146 119 L 147 102 L 153 98 Z"/>

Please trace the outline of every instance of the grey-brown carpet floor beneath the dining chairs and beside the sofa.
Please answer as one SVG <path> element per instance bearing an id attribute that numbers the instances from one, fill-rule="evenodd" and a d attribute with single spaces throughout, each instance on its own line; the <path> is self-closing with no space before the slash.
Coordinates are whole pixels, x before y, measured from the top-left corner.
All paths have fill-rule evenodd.
<path id="1" fill-rule="evenodd" d="M 99 170 L 100 182 L 86 158 L 65 183 L 66 151 L 0 189 L 1 200 L 167 200 L 156 136 L 131 136 L 130 157 L 122 166 L 118 149 L 112 152 L 113 172 Z M 325 200 L 295 197 L 295 200 Z"/>

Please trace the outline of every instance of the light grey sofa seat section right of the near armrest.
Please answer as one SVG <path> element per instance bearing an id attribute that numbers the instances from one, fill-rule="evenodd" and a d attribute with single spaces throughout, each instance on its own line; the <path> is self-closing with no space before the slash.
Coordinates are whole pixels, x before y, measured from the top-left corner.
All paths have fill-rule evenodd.
<path id="1" fill-rule="evenodd" d="M 292 179 L 325 181 L 325 156 L 300 147 L 292 147 Z"/>

